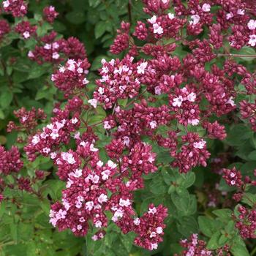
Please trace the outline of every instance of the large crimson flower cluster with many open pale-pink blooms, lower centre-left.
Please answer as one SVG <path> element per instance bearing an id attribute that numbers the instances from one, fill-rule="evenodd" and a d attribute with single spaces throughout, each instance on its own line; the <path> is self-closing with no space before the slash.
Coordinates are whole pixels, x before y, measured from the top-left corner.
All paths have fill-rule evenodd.
<path id="1" fill-rule="evenodd" d="M 76 142 L 76 151 L 51 154 L 58 166 L 59 177 L 67 181 L 67 189 L 62 192 L 61 203 L 53 204 L 50 223 L 59 230 L 69 228 L 76 236 L 85 236 L 91 220 L 94 227 L 99 228 L 92 239 L 98 240 L 105 232 L 102 229 L 108 226 L 106 211 L 110 211 L 113 214 L 111 220 L 123 233 L 134 231 L 138 234 L 135 244 L 150 250 L 157 249 L 162 241 L 167 208 L 151 205 L 146 214 L 136 217 L 131 193 L 142 187 L 143 172 L 147 174 L 157 170 L 151 146 L 136 144 L 127 157 L 119 159 L 119 168 L 111 160 L 104 165 L 91 135 L 83 134 L 82 138 L 77 137 Z M 84 167 L 81 167 L 82 159 L 87 162 Z"/>

